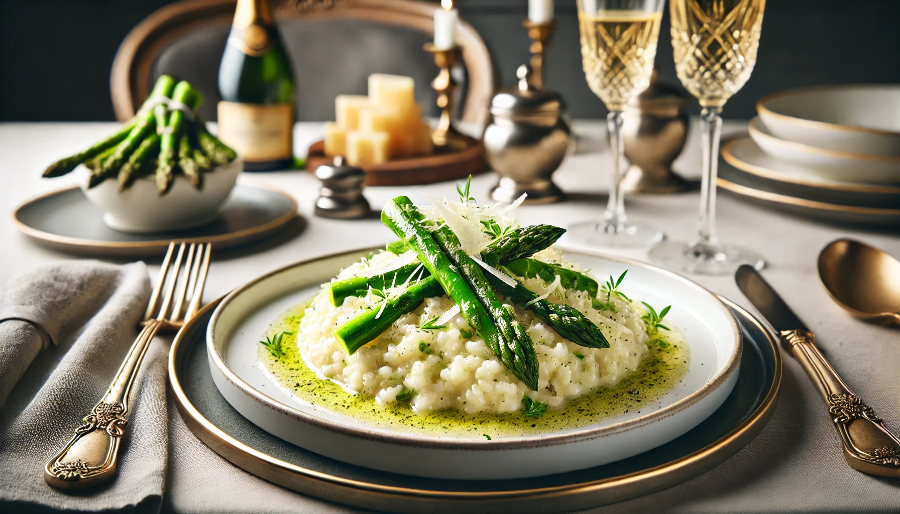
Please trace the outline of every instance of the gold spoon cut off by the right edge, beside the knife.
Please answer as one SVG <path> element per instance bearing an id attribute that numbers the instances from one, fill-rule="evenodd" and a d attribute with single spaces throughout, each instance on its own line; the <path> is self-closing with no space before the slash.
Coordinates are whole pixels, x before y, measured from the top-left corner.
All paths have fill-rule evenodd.
<path id="1" fill-rule="evenodd" d="M 819 278 L 853 316 L 900 325 L 900 261 L 852 239 L 829 243 L 819 254 Z"/>

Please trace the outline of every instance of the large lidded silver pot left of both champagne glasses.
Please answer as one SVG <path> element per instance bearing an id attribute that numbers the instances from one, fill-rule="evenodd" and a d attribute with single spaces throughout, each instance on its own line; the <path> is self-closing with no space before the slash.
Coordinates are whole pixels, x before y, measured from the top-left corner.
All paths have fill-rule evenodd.
<path id="1" fill-rule="evenodd" d="M 531 68 L 517 70 L 518 87 L 504 89 L 491 101 L 493 122 L 484 131 L 484 149 L 500 183 L 491 190 L 497 202 L 553 203 L 563 192 L 552 180 L 571 142 L 563 98 L 531 85 Z"/>

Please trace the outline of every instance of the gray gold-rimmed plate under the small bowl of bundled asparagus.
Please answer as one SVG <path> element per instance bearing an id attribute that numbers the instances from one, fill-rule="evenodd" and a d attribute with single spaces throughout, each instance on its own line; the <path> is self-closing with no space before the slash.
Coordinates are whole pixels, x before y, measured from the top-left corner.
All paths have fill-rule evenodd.
<path id="1" fill-rule="evenodd" d="M 16 229 L 43 246 L 97 257 L 153 257 L 166 253 L 169 241 L 212 243 L 217 250 L 297 233 L 305 221 L 291 195 L 265 185 L 238 183 L 210 224 L 189 230 L 130 234 L 103 223 L 103 212 L 79 187 L 43 194 L 13 212 Z"/>

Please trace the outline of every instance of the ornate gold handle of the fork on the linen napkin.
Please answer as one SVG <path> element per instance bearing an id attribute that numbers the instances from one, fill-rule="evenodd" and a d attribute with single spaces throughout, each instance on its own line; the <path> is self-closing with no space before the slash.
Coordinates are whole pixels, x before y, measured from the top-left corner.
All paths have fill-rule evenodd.
<path id="1" fill-rule="evenodd" d="M 115 476 L 119 443 L 128 423 L 128 397 L 150 342 L 163 325 L 148 320 L 84 424 L 44 467 L 44 480 L 56 489 L 74 490 L 109 482 Z"/>

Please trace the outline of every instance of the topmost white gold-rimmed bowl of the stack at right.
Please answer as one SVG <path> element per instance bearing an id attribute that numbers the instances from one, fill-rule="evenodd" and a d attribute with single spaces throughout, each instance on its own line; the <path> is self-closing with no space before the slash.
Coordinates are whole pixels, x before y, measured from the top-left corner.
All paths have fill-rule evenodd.
<path id="1" fill-rule="evenodd" d="M 900 156 L 900 86 L 820 86 L 763 97 L 772 135 L 823 149 Z"/>

